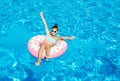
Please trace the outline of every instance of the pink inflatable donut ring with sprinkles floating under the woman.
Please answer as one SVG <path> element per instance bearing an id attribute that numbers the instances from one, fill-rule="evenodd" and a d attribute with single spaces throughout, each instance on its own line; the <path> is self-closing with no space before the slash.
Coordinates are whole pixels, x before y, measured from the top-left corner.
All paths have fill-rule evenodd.
<path id="1" fill-rule="evenodd" d="M 46 36 L 45 35 L 37 35 L 32 37 L 28 42 L 28 50 L 29 52 L 38 57 L 38 50 L 40 46 L 43 44 Z M 49 58 L 55 58 L 62 55 L 67 49 L 67 43 L 63 40 L 58 40 L 54 46 L 51 47 Z M 45 57 L 45 51 L 42 58 Z"/>

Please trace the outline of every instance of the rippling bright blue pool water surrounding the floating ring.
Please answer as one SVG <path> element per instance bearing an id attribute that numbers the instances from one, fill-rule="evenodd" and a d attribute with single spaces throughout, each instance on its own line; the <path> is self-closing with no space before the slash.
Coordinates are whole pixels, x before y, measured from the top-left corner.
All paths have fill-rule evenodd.
<path id="1" fill-rule="evenodd" d="M 36 67 L 27 42 L 45 34 L 40 11 L 75 40 Z M 120 81 L 120 0 L 1 0 L 0 81 Z"/>

